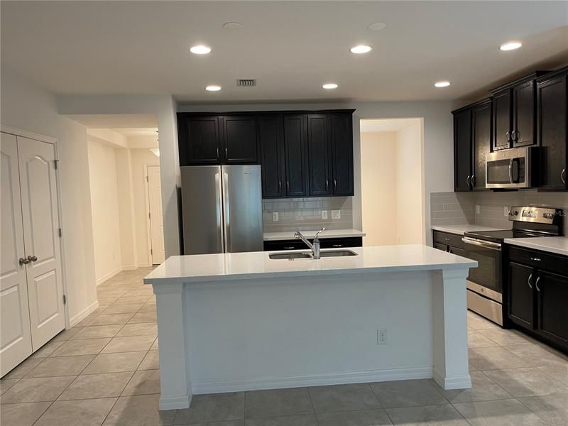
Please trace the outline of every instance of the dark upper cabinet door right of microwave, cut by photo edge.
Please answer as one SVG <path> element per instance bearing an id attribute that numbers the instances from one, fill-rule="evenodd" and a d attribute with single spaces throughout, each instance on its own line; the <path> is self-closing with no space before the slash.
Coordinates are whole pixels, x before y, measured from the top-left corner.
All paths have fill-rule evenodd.
<path id="1" fill-rule="evenodd" d="M 545 190 L 565 190 L 567 150 L 567 76 L 537 83 L 537 138 L 540 178 Z"/>

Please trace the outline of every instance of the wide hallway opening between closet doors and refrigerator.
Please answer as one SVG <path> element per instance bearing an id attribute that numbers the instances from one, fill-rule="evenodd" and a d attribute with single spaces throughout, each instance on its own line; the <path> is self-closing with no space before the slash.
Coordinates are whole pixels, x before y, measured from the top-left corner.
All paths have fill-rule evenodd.
<path id="1" fill-rule="evenodd" d="M 97 285 L 164 261 L 158 124 L 152 114 L 74 116 L 87 126 Z"/>

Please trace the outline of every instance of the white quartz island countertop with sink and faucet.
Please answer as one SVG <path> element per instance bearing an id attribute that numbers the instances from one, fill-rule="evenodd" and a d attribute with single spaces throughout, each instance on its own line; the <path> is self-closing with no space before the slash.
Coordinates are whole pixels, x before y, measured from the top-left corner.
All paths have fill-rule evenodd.
<path id="1" fill-rule="evenodd" d="M 171 256 L 148 274 L 144 283 L 199 283 L 362 272 L 432 271 L 477 266 L 476 261 L 422 245 L 367 246 L 350 250 L 358 256 L 294 261 L 270 259 L 267 251 Z M 302 251 L 304 250 L 297 250 Z"/>

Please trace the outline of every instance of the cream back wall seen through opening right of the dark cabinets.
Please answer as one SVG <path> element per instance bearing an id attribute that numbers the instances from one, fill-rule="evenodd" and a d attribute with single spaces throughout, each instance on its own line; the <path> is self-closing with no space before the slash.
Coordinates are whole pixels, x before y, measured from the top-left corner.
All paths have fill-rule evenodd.
<path id="1" fill-rule="evenodd" d="M 397 244 L 396 133 L 361 133 L 361 214 L 365 246 Z M 385 220 L 385 218 L 388 218 Z"/>

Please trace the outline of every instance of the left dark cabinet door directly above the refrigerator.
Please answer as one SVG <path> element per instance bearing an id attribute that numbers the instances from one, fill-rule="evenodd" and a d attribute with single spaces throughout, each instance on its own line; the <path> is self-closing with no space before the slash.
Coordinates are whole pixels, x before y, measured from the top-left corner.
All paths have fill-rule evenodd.
<path id="1" fill-rule="evenodd" d="M 185 149 L 180 149 L 180 165 L 219 164 L 220 136 L 217 116 L 188 117 L 182 124 L 185 134 L 180 142 L 185 142 Z M 185 152 L 185 158 L 181 153 Z"/>

